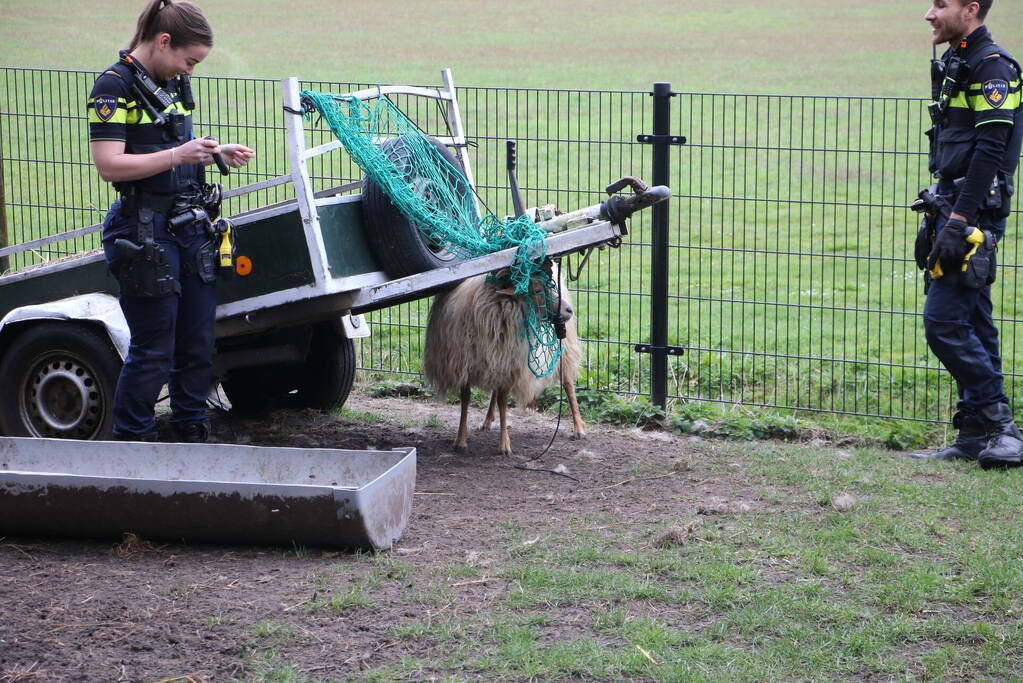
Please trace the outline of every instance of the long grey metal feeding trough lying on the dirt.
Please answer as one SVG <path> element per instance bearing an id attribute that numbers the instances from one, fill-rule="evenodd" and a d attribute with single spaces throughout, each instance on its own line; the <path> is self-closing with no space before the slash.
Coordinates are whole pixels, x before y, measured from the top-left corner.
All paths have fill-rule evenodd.
<path id="1" fill-rule="evenodd" d="M 0 535 L 388 548 L 415 449 L 0 438 Z"/>

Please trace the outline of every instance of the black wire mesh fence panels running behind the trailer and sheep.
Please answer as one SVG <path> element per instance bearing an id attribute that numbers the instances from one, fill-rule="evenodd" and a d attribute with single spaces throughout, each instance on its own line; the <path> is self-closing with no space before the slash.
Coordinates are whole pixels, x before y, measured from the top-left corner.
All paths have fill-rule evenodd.
<path id="1" fill-rule="evenodd" d="M 99 223 L 114 198 L 91 167 L 87 72 L 0 70 L 0 140 L 8 244 Z M 279 84 L 193 81 L 196 134 L 243 142 L 257 161 L 226 187 L 288 172 Z M 308 83 L 349 92 L 360 83 Z M 477 190 L 487 211 L 511 213 L 505 140 L 518 141 L 525 206 L 595 203 L 622 176 L 649 180 L 649 92 L 457 90 Z M 436 103 L 399 98 L 428 133 L 443 134 Z M 943 420 L 954 386 L 927 349 L 917 219 L 906 204 L 928 184 L 922 99 L 678 93 L 670 156 L 668 395 L 680 401 Z M 329 139 L 320 127 L 311 144 Z M 344 155 L 311 168 L 325 188 L 361 173 Z M 228 214 L 285 200 L 287 186 L 229 199 Z M 1019 385 L 1016 231 L 1009 219 L 992 288 L 1007 394 Z M 571 284 L 585 345 L 582 383 L 647 395 L 652 240 L 649 212 L 619 248 L 594 252 Z M 243 239 L 243 235 L 240 236 Z M 96 234 L 10 257 L 17 270 L 98 247 Z M 575 270 L 581 259 L 573 257 Z M 370 315 L 360 349 L 370 373 L 415 375 L 429 301 Z"/>

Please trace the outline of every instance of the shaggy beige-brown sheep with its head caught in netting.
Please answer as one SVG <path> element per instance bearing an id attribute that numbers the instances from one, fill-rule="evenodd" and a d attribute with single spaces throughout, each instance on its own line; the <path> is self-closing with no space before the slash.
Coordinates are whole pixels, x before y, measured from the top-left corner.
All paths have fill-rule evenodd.
<path id="1" fill-rule="evenodd" d="M 574 428 L 573 439 L 586 435 L 579 412 L 575 382 L 579 378 L 582 345 L 573 317 L 568 287 L 561 281 L 557 265 L 551 274 L 561 284 L 561 314 L 567 319 L 567 335 L 562 342 L 558 367 L 546 377 L 536 377 L 529 369 L 529 343 L 522 333 L 524 295 L 514 288 L 502 288 L 479 275 L 463 280 L 454 289 L 434 301 L 427 323 L 422 371 L 431 384 L 443 395 L 457 391 L 461 401 L 458 432 L 454 449 L 469 448 L 469 400 L 473 386 L 490 390 L 490 407 L 481 430 L 489 429 L 495 408 L 500 415 L 500 453 L 511 454 L 507 429 L 508 396 L 519 405 L 533 403 L 544 388 L 561 381 L 569 400 Z"/>

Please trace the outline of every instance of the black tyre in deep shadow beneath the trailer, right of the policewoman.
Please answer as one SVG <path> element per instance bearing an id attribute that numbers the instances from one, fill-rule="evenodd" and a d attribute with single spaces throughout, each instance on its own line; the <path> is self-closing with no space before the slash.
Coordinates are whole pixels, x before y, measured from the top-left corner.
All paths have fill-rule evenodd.
<path id="1" fill-rule="evenodd" d="M 355 382 L 355 345 L 329 323 L 313 326 L 301 365 L 276 364 L 232 370 L 222 386 L 231 408 L 255 413 L 277 406 L 329 410 L 345 404 Z"/>

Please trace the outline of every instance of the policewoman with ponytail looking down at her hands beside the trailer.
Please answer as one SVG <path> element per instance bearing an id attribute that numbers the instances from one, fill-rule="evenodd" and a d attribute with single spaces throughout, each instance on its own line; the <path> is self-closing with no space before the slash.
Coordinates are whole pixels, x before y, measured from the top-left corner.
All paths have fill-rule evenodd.
<path id="1" fill-rule="evenodd" d="M 87 102 L 93 164 L 119 195 L 103 222 L 131 331 L 114 400 L 119 440 L 155 441 L 165 383 L 177 440 L 210 435 L 220 193 L 206 182 L 206 167 L 216 157 L 226 172 L 255 155 L 192 133 L 189 77 L 212 46 L 213 31 L 194 4 L 149 0 L 130 46 Z"/>

